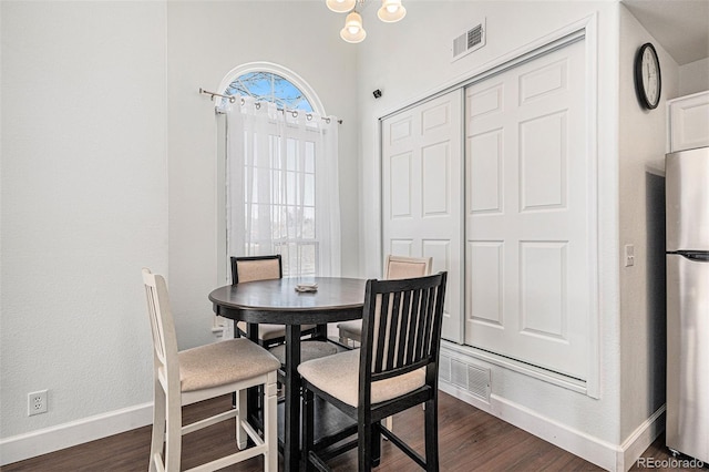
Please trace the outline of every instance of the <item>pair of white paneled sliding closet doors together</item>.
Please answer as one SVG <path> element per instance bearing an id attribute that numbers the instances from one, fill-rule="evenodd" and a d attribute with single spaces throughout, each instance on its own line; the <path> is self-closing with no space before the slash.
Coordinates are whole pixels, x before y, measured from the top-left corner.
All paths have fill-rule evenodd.
<path id="1" fill-rule="evenodd" d="M 451 273 L 443 337 L 580 380 L 595 273 L 584 44 L 382 121 L 383 252 Z"/>

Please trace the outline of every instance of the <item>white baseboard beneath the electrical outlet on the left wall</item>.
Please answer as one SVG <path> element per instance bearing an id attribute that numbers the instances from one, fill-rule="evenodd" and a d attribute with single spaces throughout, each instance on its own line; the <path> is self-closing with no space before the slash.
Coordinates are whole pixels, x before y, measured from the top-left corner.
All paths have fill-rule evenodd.
<path id="1" fill-rule="evenodd" d="M 119 434 L 153 422 L 153 403 L 143 403 L 0 440 L 0 465 Z"/>

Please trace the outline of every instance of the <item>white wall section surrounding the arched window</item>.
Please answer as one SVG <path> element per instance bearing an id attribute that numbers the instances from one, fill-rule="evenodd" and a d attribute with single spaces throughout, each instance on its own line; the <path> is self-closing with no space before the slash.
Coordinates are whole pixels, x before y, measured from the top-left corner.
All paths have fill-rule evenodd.
<path id="1" fill-rule="evenodd" d="M 356 276 L 359 150 L 357 49 L 339 40 L 341 18 L 321 2 L 168 2 L 169 280 L 181 348 L 213 340 L 207 295 L 217 285 L 216 119 L 199 88 L 215 91 L 237 65 L 266 61 L 300 75 L 340 137 L 342 270 Z M 223 236 L 222 236 L 223 237 Z"/>

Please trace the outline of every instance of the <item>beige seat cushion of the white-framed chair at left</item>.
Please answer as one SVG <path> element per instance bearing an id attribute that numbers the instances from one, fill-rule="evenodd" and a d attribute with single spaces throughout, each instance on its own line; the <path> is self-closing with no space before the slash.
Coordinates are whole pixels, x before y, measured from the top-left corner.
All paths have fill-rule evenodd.
<path id="1" fill-rule="evenodd" d="M 187 349 L 178 357 L 183 392 L 250 379 L 280 367 L 270 352 L 246 338 Z"/>

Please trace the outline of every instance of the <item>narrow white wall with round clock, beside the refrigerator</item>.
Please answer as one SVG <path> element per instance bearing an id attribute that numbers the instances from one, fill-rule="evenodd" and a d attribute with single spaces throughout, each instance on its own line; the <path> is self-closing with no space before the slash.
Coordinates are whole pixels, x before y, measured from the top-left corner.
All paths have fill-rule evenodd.
<path id="1" fill-rule="evenodd" d="M 666 101 L 677 96 L 679 68 L 643 25 L 620 7 L 619 244 L 635 246 L 635 265 L 620 267 L 621 434 L 665 403 L 665 150 Z M 651 42 L 662 90 L 655 110 L 639 105 L 634 85 L 637 50 Z M 620 254 L 619 254 L 620 256 Z"/>

